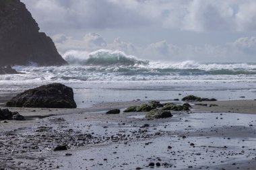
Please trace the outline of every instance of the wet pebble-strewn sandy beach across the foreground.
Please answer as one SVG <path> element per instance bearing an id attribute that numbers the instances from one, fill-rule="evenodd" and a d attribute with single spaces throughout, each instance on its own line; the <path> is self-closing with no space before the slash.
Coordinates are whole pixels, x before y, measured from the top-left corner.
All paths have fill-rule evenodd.
<path id="1" fill-rule="evenodd" d="M 104 114 L 141 103 L 10 108 L 26 121 L 0 123 L 0 168 L 255 169 L 256 101 L 191 103 L 190 112 L 160 120 L 143 112 Z M 67 151 L 53 151 L 58 145 Z"/>

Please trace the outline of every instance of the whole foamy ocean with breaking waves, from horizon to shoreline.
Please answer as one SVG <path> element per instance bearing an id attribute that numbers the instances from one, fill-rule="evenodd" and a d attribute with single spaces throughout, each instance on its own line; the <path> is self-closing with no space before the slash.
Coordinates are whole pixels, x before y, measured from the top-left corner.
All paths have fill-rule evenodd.
<path id="1" fill-rule="evenodd" d="M 108 101 L 171 101 L 185 95 L 256 99 L 256 63 L 160 62 L 109 50 L 92 52 L 86 58 L 71 51 L 64 58 L 69 66 L 32 63 L 13 67 L 22 74 L 0 75 L 1 101 L 48 83 L 72 87 L 78 108 Z"/>

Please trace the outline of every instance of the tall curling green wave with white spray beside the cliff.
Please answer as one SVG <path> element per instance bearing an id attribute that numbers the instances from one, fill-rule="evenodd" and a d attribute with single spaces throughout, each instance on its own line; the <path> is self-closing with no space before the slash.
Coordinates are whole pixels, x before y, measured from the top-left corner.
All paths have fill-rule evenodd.
<path id="1" fill-rule="evenodd" d="M 138 60 L 135 56 L 129 56 L 119 50 L 97 50 L 90 53 L 71 50 L 66 52 L 63 58 L 70 65 L 136 66 L 148 65 L 149 63 L 147 60 Z"/>

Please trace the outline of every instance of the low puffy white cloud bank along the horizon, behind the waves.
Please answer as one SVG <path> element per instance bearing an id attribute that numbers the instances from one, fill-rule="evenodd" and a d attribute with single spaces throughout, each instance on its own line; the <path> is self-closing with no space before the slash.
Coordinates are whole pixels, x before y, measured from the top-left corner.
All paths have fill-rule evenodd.
<path id="1" fill-rule="evenodd" d="M 113 43 L 107 43 L 100 34 L 89 33 L 82 40 L 58 34 L 53 36 L 57 40 L 57 48 L 61 54 L 67 51 L 94 52 L 95 50 L 108 49 L 120 50 L 128 55 L 137 56 L 146 60 L 184 61 L 195 60 L 198 62 L 256 62 L 256 37 L 244 37 L 228 42 L 222 46 L 204 44 L 195 46 L 185 44 L 178 46 L 166 40 L 148 44 L 148 46 L 135 46 L 115 38 Z M 80 52 L 79 52 L 80 53 Z"/>

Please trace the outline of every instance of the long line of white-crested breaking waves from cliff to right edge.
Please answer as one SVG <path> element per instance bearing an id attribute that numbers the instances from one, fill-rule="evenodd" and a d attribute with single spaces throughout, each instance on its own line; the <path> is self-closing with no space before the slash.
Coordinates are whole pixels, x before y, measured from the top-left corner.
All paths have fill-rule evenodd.
<path id="1" fill-rule="evenodd" d="M 193 60 L 183 62 L 154 61 L 137 58 L 119 50 L 96 50 L 95 52 L 70 50 L 63 55 L 70 65 L 102 67 L 137 67 L 137 69 L 199 70 L 210 74 L 251 74 L 256 71 L 256 63 L 199 63 Z M 119 68 L 121 69 L 121 68 Z M 129 68 L 128 68 L 129 69 Z M 212 71 L 212 72 L 211 72 Z M 215 71 L 215 72 L 214 72 Z"/>

